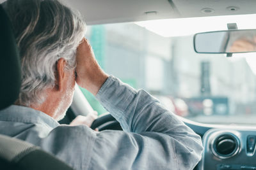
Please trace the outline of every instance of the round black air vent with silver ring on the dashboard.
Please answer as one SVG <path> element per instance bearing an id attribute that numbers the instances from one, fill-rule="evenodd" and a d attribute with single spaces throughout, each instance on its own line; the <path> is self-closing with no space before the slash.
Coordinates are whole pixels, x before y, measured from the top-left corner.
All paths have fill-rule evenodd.
<path id="1" fill-rule="evenodd" d="M 228 159 L 236 155 L 239 145 L 239 139 L 234 134 L 220 134 L 212 143 L 212 153 L 220 159 Z"/>

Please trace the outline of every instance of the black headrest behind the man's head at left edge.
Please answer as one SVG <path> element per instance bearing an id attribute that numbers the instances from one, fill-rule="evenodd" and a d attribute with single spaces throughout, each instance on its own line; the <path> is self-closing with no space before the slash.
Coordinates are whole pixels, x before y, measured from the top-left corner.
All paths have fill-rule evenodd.
<path id="1" fill-rule="evenodd" d="M 20 92 L 20 58 L 12 25 L 0 5 L 0 110 L 13 104 Z"/>

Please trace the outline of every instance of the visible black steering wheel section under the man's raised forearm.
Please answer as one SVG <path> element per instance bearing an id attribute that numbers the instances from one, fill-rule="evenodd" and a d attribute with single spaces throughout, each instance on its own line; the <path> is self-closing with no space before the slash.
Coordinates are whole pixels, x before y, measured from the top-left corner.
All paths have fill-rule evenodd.
<path id="1" fill-rule="evenodd" d="M 98 128 L 99 131 L 118 130 L 122 131 L 122 127 L 117 120 L 110 114 L 95 119 L 91 125 L 92 129 Z"/>

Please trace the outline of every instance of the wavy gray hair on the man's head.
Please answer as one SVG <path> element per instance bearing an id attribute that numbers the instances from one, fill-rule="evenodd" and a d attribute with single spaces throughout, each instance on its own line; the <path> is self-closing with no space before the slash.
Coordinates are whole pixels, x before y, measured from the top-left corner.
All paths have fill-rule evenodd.
<path id="1" fill-rule="evenodd" d="M 4 4 L 20 51 L 22 85 L 17 103 L 44 101 L 54 87 L 56 62 L 76 67 L 76 49 L 86 32 L 81 17 L 57 0 L 8 0 Z"/>

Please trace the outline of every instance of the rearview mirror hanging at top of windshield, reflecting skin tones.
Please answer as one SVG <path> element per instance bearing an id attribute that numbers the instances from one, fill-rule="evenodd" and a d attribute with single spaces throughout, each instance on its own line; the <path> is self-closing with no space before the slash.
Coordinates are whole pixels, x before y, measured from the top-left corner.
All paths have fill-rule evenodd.
<path id="1" fill-rule="evenodd" d="M 196 53 L 256 52 L 256 29 L 198 33 L 194 48 Z"/>

